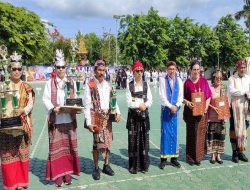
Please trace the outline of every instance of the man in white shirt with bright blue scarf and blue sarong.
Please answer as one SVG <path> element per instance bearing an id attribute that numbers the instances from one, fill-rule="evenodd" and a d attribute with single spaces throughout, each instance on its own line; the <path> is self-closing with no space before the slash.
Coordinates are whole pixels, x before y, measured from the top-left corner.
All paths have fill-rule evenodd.
<path id="1" fill-rule="evenodd" d="M 160 79 L 159 94 L 161 99 L 161 163 L 164 169 L 167 158 L 171 165 L 180 168 L 178 145 L 178 113 L 183 102 L 183 83 L 176 75 L 174 61 L 167 63 L 167 75 Z"/>

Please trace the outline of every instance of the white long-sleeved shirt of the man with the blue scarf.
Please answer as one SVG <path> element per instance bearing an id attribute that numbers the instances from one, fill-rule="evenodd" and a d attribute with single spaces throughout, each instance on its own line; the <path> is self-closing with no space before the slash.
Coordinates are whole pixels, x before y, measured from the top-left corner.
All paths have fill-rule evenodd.
<path id="1" fill-rule="evenodd" d="M 178 95 L 178 100 L 175 106 L 180 107 L 183 102 L 183 83 L 182 80 L 177 77 L 178 84 L 179 84 L 179 95 Z M 169 77 L 170 85 L 173 86 L 174 80 L 172 80 Z M 160 94 L 160 99 L 161 99 L 161 105 L 162 106 L 167 106 L 168 108 L 171 108 L 172 105 L 167 98 L 167 90 L 166 90 L 166 79 L 165 77 L 160 78 L 160 85 L 159 85 L 159 94 Z"/>

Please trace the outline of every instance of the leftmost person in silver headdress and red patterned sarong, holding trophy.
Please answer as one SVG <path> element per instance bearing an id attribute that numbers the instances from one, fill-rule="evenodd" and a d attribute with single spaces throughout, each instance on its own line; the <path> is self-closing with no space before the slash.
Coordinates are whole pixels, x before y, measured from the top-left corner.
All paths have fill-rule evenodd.
<path id="1" fill-rule="evenodd" d="M 21 55 L 15 52 L 10 58 L 11 64 L 8 67 L 10 84 L 8 84 L 8 90 L 12 92 L 5 94 L 6 105 L 4 106 L 2 102 L 0 114 L 2 182 L 4 190 L 21 190 L 29 186 L 29 155 L 32 135 L 31 111 L 34 105 L 35 93 L 29 84 L 21 80 Z M 7 82 L 9 79 L 5 78 L 5 80 Z M 6 85 L 4 86 L 6 87 Z M 3 111 L 3 109 L 6 109 L 6 111 Z M 3 117 L 3 115 L 5 116 Z M 6 127 L 4 126 L 5 118 L 19 119 L 21 126 L 18 125 L 16 129 L 3 129 Z"/>

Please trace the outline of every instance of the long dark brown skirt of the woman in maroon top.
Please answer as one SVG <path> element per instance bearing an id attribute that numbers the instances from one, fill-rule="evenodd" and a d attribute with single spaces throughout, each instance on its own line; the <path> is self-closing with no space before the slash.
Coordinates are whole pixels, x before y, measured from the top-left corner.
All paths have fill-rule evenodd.
<path id="1" fill-rule="evenodd" d="M 207 116 L 193 116 L 189 109 L 184 110 L 186 122 L 186 160 L 189 163 L 203 160 L 205 154 L 205 137 Z"/>

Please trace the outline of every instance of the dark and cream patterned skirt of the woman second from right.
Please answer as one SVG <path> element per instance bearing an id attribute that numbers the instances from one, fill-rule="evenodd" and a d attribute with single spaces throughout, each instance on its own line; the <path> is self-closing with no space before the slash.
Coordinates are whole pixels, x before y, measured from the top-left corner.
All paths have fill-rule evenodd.
<path id="1" fill-rule="evenodd" d="M 207 154 L 224 153 L 225 135 L 225 122 L 209 122 L 207 129 Z"/>

